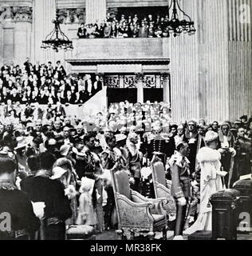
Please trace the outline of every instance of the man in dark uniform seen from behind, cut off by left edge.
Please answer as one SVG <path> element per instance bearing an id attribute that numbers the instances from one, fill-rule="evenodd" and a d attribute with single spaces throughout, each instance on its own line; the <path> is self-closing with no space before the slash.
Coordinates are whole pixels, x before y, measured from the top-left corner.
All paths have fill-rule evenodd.
<path id="1" fill-rule="evenodd" d="M 26 195 L 15 186 L 16 165 L 5 152 L 0 157 L 0 213 L 10 214 L 11 226 L 0 231 L 0 240 L 28 240 L 38 230 L 39 219 Z M 28 234 L 28 236 L 27 236 Z"/>

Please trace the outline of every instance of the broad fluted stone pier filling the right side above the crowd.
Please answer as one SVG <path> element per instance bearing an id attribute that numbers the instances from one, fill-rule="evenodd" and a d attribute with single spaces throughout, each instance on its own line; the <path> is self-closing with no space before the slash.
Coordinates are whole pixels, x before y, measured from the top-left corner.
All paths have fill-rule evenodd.
<path id="1" fill-rule="evenodd" d="M 251 1 L 180 2 L 197 31 L 169 38 L 172 118 L 234 122 L 252 114 Z"/>

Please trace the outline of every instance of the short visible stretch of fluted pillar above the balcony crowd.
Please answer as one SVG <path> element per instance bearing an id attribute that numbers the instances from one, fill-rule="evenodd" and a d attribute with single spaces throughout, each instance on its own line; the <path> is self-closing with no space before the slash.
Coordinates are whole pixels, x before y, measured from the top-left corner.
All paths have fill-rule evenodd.
<path id="1" fill-rule="evenodd" d="M 106 18 L 106 0 L 86 0 L 86 22 L 101 22 Z"/>

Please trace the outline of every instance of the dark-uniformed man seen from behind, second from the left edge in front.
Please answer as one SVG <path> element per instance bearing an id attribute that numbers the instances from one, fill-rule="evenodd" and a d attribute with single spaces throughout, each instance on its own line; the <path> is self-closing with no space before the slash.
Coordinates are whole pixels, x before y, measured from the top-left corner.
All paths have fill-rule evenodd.
<path id="1" fill-rule="evenodd" d="M 72 214 L 63 185 L 49 178 L 55 161 L 53 154 L 41 153 L 41 170 L 23 186 L 31 201 L 45 202 L 43 218 L 45 240 L 65 240 L 65 220 Z"/>

